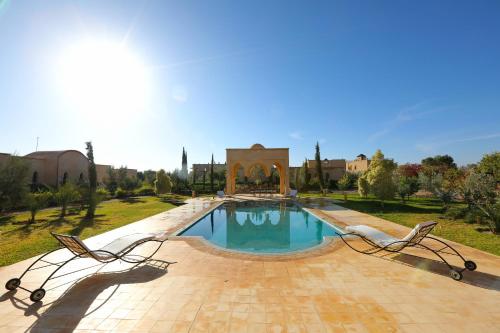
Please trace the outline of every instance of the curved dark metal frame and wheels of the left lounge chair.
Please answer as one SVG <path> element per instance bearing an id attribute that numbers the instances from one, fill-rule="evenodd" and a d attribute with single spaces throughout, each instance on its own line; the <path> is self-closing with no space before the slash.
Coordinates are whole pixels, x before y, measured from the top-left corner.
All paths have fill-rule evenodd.
<path id="1" fill-rule="evenodd" d="M 116 261 L 116 260 L 121 260 L 121 261 L 130 263 L 130 264 L 141 264 L 141 263 L 144 263 L 147 260 L 151 259 L 160 250 L 161 246 L 163 245 L 163 242 L 166 241 L 166 239 L 164 239 L 164 240 L 145 239 L 143 241 L 137 242 L 136 244 L 133 244 L 133 246 L 131 246 L 129 249 L 126 249 L 126 251 L 121 252 L 119 254 L 116 254 L 116 253 L 112 253 L 112 252 L 106 251 L 106 250 L 94 250 L 94 251 L 87 250 L 84 247 L 82 247 L 79 243 L 74 241 L 74 238 L 73 238 L 74 236 L 58 235 L 58 234 L 54 234 L 54 233 L 51 233 L 51 235 L 54 236 L 61 243 L 60 246 L 57 249 L 54 249 L 50 252 L 47 252 L 44 255 L 42 255 L 40 258 L 36 259 L 33 263 L 31 263 L 31 265 L 28 266 L 28 268 L 26 268 L 26 270 L 18 278 L 12 278 L 9 281 L 7 281 L 7 283 L 5 284 L 6 289 L 8 289 L 8 290 L 15 290 L 17 288 L 23 289 L 23 290 L 31 293 L 30 294 L 31 301 L 37 302 L 37 301 L 40 301 L 45 296 L 45 290 L 43 289 L 43 287 L 50 280 L 57 279 L 57 278 L 62 277 L 62 276 L 66 276 L 66 275 L 73 274 L 73 273 L 76 273 L 76 272 L 79 272 L 79 271 L 82 271 L 85 269 L 95 267 L 95 265 L 94 265 L 94 266 L 86 267 L 86 268 L 79 269 L 76 271 L 68 272 L 66 274 L 54 276 L 60 269 L 62 269 L 65 265 L 69 264 L 73 260 L 81 259 L 81 258 L 91 258 L 91 259 L 98 261 L 102 265 L 111 263 L 111 262 Z M 82 251 L 76 252 L 75 249 L 68 247 L 58 237 L 67 237 L 67 238 L 72 239 L 74 244 L 77 244 L 77 247 Z M 159 243 L 158 247 L 156 247 L 156 249 L 153 251 L 153 253 L 151 253 L 149 256 L 141 256 L 141 255 L 137 255 L 137 254 L 128 255 L 136 247 L 138 247 L 144 243 L 147 243 L 147 242 Z M 47 256 L 49 256 L 51 253 L 58 251 L 58 250 L 61 250 L 61 249 L 67 249 L 71 253 L 73 253 L 74 255 L 71 258 L 69 258 L 68 260 L 61 261 L 61 262 L 51 262 L 51 261 L 45 260 L 45 258 Z M 103 258 L 99 257 L 99 254 L 101 254 L 101 255 L 104 254 L 104 255 L 107 255 L 109 257 L 107 257 L 106 259 L 103 259 Z M 128 258 L 126 258 L 127 255 L 128 255 Z M 140 258 L 140 259 L 134 259 L 134 258 Z M 37 266 L 37 264 L 40 262 L 43 262 L 44 265 Z M 172 263 L 174 263 L 174 262 L 172 262 Z M 40 285 L 40 287 L 38 287 L 35 290 L 30 290 L 30 289 L 27 289 L 27 288 L 24 288 L 23 286 L 21 286 L 21 279 L 28 272 L 31 272 L 31 271 L 34 271 L 37 269 L 41 269 L 41 268 L 45 268 L 45 267 L 50 267 L 50 266 L 57 266 L 57 268 L 54 271 L 52 271 L 52 273 L 45 279 L 45 281 Z"/>

